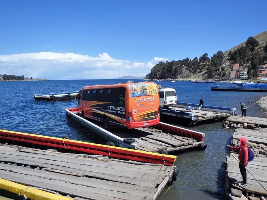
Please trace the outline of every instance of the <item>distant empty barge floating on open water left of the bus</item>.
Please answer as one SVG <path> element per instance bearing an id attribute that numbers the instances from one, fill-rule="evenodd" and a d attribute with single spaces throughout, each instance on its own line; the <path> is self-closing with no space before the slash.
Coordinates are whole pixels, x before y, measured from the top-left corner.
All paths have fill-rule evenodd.
<path id="1" fill-rule="evenodd" d="M 59 92 L 59 93 L 50 93 L 50 94 L 38 94 L 34 95 L 35 100 L 67 100 L 74 99 L 75 95 L 78 94 L 79 91 L 75 92 Z"/>

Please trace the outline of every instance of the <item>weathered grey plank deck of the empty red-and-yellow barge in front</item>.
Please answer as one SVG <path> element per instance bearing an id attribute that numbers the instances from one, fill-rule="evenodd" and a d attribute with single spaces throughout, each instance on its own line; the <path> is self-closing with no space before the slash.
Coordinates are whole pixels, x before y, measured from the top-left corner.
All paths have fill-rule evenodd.
<path id="1" fill-rule="evenodd" d="M 173 171 L 161 164 L 0 145 L 0 178 L 75 199 L 156 199 Z"/>

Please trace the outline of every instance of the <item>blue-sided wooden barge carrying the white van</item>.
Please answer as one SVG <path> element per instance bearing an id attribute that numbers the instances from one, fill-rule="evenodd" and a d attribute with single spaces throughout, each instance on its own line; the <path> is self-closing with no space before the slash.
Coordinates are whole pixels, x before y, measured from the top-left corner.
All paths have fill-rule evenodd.
<path id="1" fill-rule="evenodd" d="M 194 109 L 187 110 L 187 106 L 191 106 Z M 222 121 L 236 111 L 236 108 L 220 107 L 215 105 L 203 105 L 201 110 L 197 110 L 198 107 L 198 104 L 182 102 L 177 102 L 177 104 L 172 105 L 169 108 L 161 107 L 160 114 L 163 114 L 161 119 L 164 120 L 164 117 L 171 116 L 172 121 L 183 124 L 186 123 L 190 127 L 192 125 Z"/>

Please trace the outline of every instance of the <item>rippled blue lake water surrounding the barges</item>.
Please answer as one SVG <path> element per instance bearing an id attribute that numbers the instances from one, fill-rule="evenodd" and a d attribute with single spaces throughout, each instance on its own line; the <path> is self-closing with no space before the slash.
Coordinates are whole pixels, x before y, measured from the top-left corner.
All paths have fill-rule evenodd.
<path id="1" fill-rule="evenodd" d="M 75 100 L 34 100 L 34 94 L 78 91 L 87 85 L 116 84 L 128 80 L 54 80 L 54 81 L 1 81 L 0 82 L 0 127 L 6 130 L 63 137 L 73 140 L 97 142 L 91 133 L 66 118 L 65 108 L 76 108 Z M 141 82 L 144 80 L 134 80 Z M 199 103 L 237 108 L 240 102 L 255 103 L 266 92 L 211 91 L 211 83 L 189 81 L 157 82 L 162 87 L 176 89 L 180 102 Z M 213 84 L 217 85 L 217 84 Z M 231 84 L 219 84 L 231 86 Z M 251 103 L 249 103 L 251 102 Z M 247 116 L 263 117 L 257 104 L 247 109 Z M 177 154 L 175 165 L 179 175 L 174 185 L 165 188 L 158 199 L 224 199 L 224 161 L 228 155 L 225 146 L 233 136 L 233 130 L 222 129 L 222 122 L 204 124 L 189 129 L 206 133 L 205 151 L 188 151 Z M 179 125 L 182 127 L 181 125 Z M 188 128 L 188 127 L 184 127 Z"/>

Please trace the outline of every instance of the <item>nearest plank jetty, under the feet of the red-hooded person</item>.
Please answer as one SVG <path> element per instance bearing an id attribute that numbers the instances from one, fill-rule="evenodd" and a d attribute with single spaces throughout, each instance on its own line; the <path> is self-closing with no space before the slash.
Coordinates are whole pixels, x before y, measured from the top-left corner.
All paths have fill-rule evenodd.
<path id="1" fill-rule="evenodd" d="M 238 155 L 233 154 L 236 158 Z M 253 161 L 247 165 L 249 172 L 255 176 L 260 183 L 267 188 L 267 159 L 254 157 Z M 247 172 L 247 188 L 240 187 L 237 183 L 242 181 L 242 176 L 239 170 L 239 162 L 230 154 L 226 159 L 226 180 L 230 187 L 250 192 L 253 194 L 267 195 L 267 191 L 255 180 L 255 178 Z"/>

